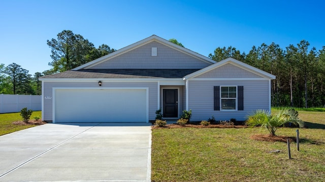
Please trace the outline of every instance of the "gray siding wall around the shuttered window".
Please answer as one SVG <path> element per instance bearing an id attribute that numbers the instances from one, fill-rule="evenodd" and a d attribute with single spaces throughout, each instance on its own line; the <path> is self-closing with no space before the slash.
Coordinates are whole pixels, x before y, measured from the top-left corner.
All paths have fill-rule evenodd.
<path id="1" fill-rule="evenodd" d="M 213 86 L 244 86 L 243 111 L 215 111 Z M 216 120 L 246 120 L 246 116 L 256 109 L 269 109 L 269 80 L 240 81 L 189 81 L 189 109 L 192 110 L 192 121 L 207 120 L 213 115 Z"/>

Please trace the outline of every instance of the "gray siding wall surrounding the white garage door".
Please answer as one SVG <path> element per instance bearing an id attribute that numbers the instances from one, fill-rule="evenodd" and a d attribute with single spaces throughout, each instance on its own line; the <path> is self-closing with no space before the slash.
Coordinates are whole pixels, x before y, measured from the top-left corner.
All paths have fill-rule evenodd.
<path id="1" fill-rule="evenodd" d="M 45 121 L 52 121 L 52 100 L 53 100 L 53 87 L 89 87 L 98 88 L 98 82 L 44 82 L 43 97 L 51 97 L 52 99 L 44 99 L 44 118 Z M 157 82 L 104 82 L 101 88 L 109 87 L 148 87 L 149 88 L 149 120 L 154 120 L 156 117 L 155 111 L 157 110 Z M 73 106 L 70 106 L 73 107 Z M 127 114 L 127 111 L 125 111 Z"/>

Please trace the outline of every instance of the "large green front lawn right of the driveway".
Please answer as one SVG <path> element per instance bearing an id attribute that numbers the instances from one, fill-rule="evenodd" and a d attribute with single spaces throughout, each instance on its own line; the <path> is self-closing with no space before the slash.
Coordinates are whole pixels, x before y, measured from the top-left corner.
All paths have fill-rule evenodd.
<path id="1" fill-rule="evenodd" d="M 153 181 L 322 181 L 325 178 L 325 113 L 299 112 L 300 151 L 291 143 L 251 140 L 264 128 L 175 128 L 152 131 Z M 296 136 L 297 128 L 277 135 Z M 270 154 L 269 151 L 281 150 Z"/>

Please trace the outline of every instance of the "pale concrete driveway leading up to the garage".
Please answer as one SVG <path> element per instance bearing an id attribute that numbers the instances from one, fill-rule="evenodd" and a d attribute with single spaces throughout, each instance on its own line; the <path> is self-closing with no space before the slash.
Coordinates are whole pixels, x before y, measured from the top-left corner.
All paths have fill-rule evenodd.
<path id="1" fill-rule="evenodd" d="M 0 136 L 0 181 L 150 181 L 150 123 L 45 124 Z"/>

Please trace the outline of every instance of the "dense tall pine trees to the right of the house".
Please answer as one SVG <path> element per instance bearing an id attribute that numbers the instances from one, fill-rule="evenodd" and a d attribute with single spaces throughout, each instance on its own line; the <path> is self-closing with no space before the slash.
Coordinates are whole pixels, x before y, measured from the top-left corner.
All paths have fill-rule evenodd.
<path id="1" fill-rule="evenodd" d="M 308 41 L 301 40 L 297 45 L 289 44 L 285 50 L 272 42 L 253 46 L 248 54 L 231 46 L 218 47 L 209 54 L 217 62 L 228 57 L 276 76 L 272 80 L 272 106 L 325 106 L 325 46 L 317 51 L 310 48 Z"/>

